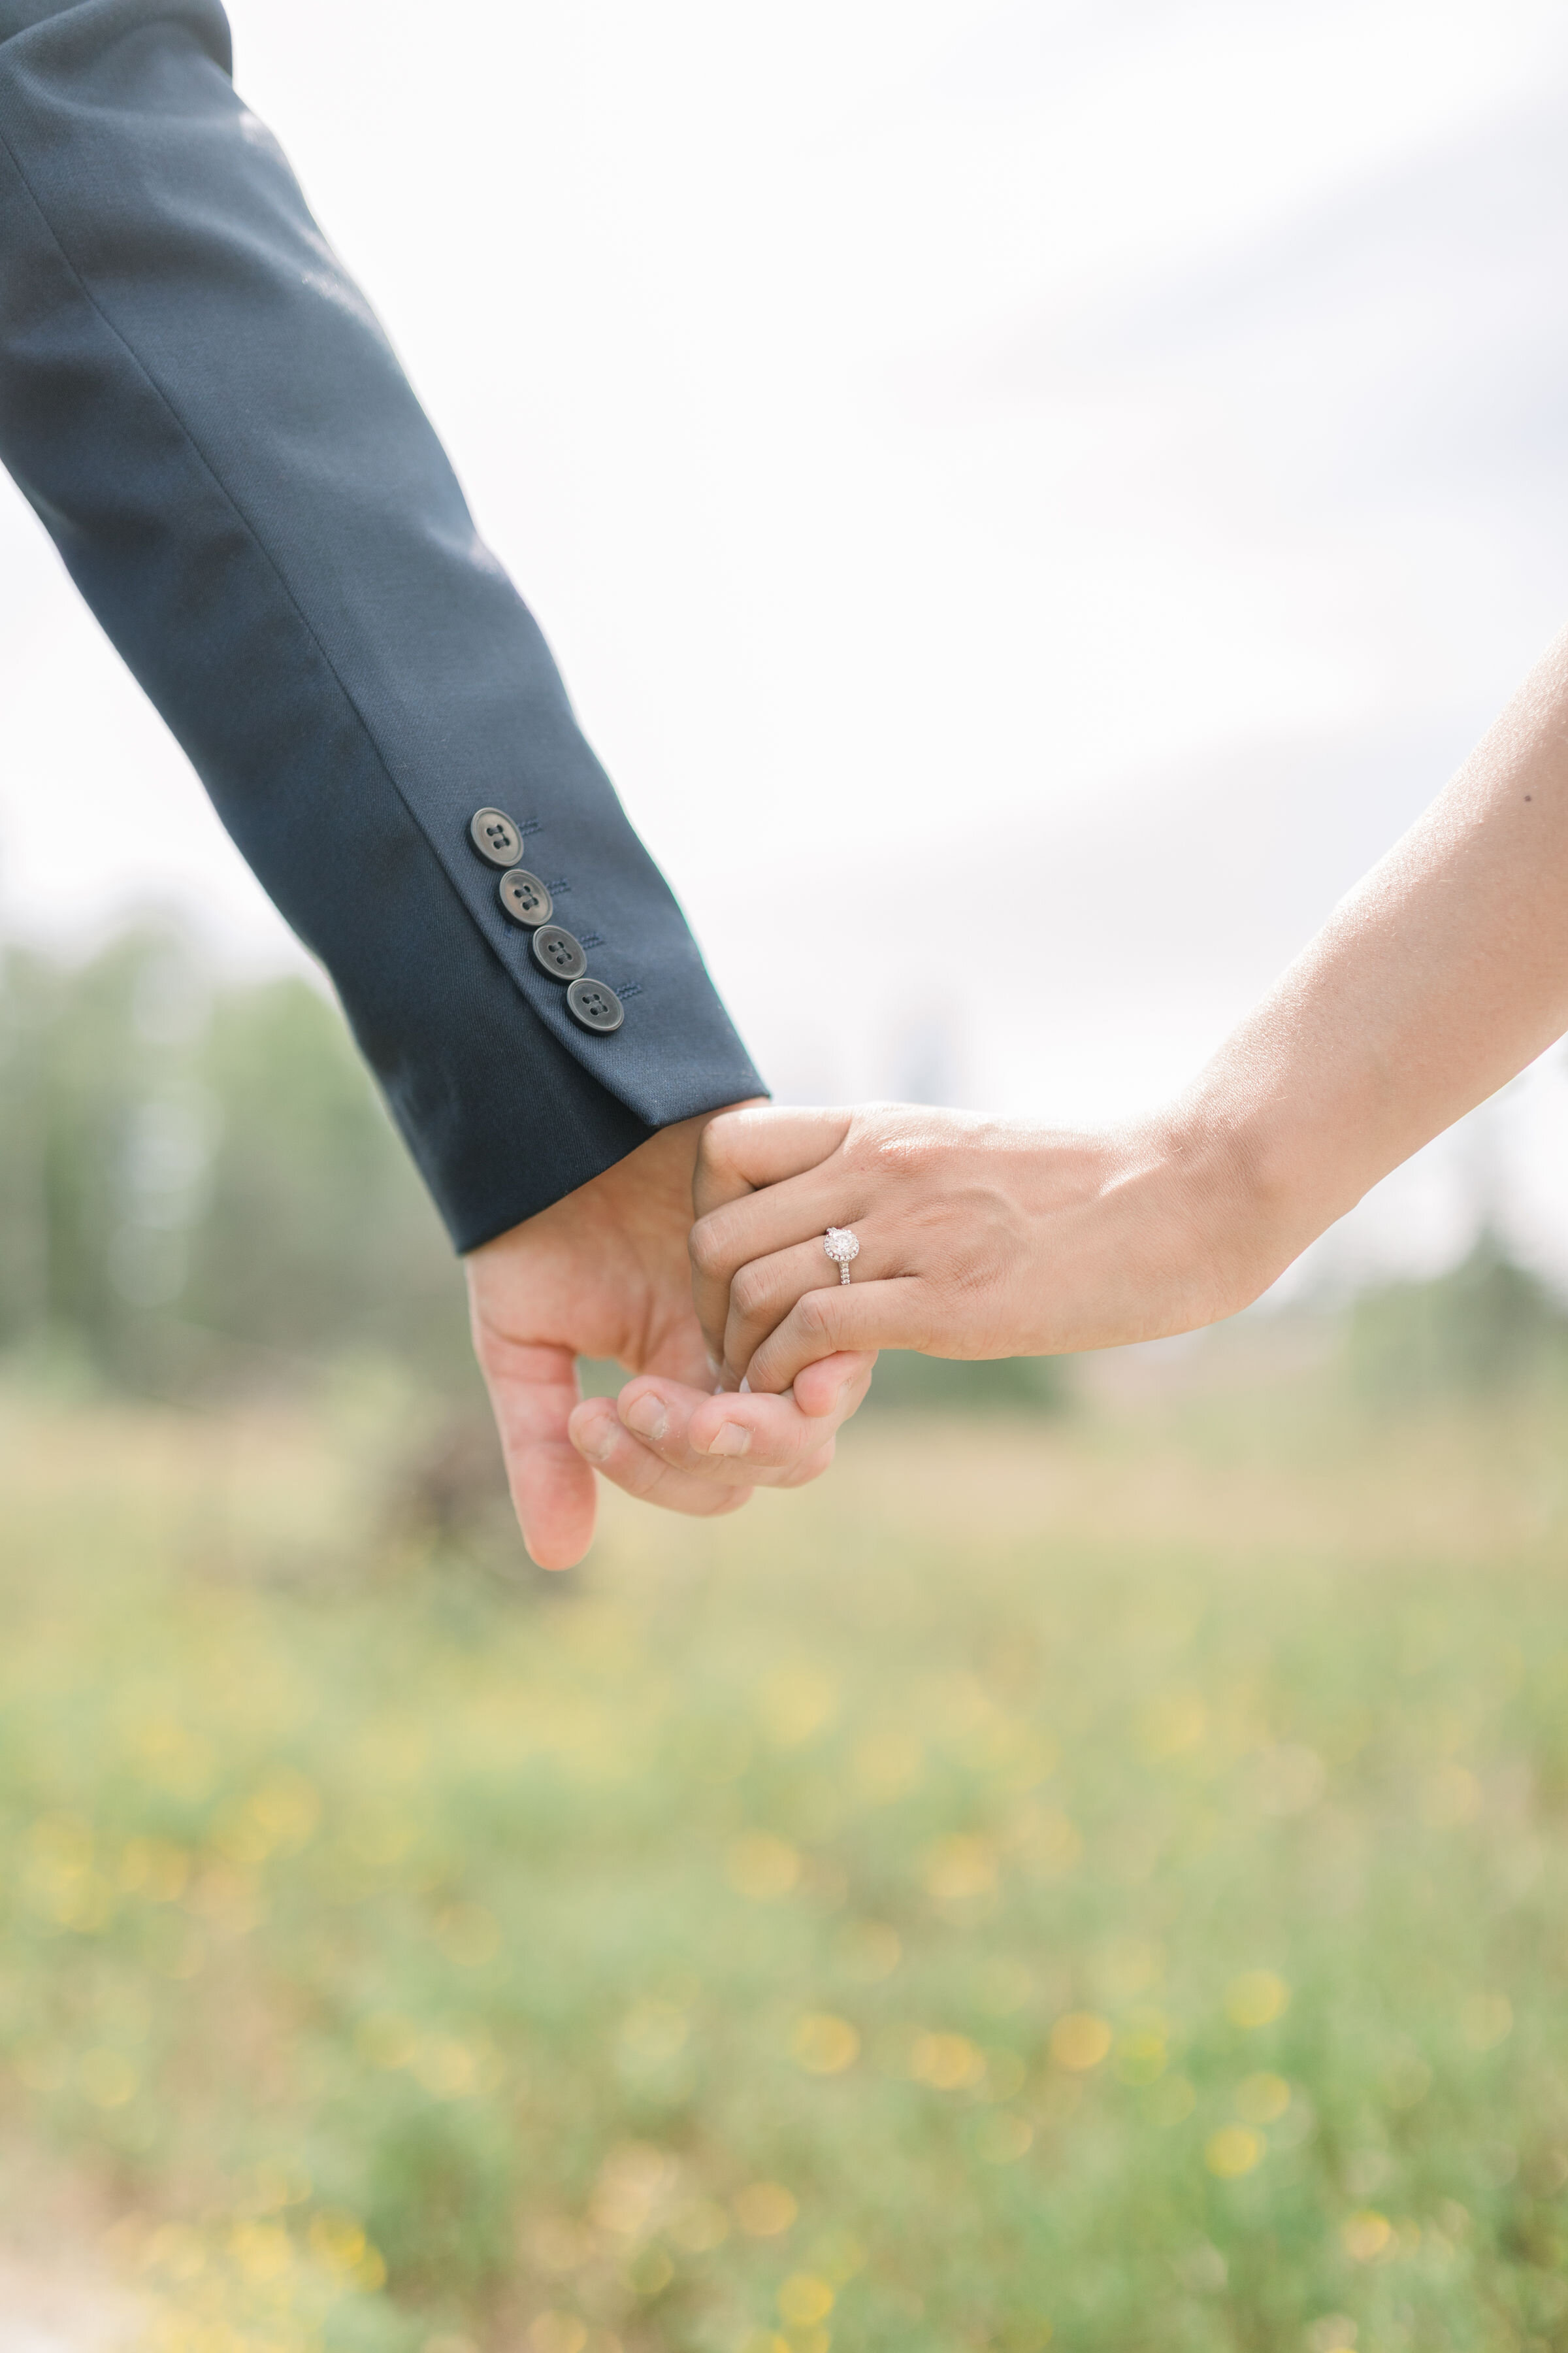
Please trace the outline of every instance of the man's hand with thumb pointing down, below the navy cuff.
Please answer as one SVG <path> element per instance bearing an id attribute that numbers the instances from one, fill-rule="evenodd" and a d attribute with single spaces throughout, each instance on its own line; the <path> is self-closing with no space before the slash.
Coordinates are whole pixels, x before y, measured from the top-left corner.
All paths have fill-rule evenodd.
<path id="1" fill-rule="evenodd" d="M 592 1541 L 595 1468 L 670 1511 L 736 1511 L 752 1487 L 799 1487 L 832 1461 L 872 1355 L 811 1365 L 795 1395 L 715 1395 L 691 1306 L 691 1172 L 708 1118 L 651 1136 L 592 1184 L 465 1259 L 524 1544 L 569 1569 Z M 639 1374 L 578 1402 L 576 1358 Z"/>

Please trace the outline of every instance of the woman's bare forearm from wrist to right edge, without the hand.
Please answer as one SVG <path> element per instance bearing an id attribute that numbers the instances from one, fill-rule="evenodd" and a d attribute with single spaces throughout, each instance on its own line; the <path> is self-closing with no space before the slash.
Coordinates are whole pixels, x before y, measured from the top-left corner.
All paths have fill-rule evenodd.
<path id="1" fill-rule="evenodd" d="M 1178 1106 L 1288 1264 L 1568 1028 L 1568 640 Z"/>

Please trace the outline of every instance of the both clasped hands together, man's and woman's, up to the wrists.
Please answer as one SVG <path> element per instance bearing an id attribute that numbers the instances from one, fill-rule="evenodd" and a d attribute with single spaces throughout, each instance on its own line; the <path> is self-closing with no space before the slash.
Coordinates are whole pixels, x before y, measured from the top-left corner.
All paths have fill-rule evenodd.
<path id="1" fill-rule="evenodd" d="M 1072 1136 L 900 1104 L 745 1106 L 665 1127 L 465 1261 L 529 1553 L 583 1558 L 595 1471 L 696 1515 L 806 1485 L 877 1348 L 1044 1355 L 1229 1315 L 1291 1257 L 1248 1247 L 1244 1198 L 1225 1148 L 1178 1118 Z M 858 1235 L 849 1285 L 827 1226 Z M 581 1400 L 578 1355 L 635 1379 Z"/>

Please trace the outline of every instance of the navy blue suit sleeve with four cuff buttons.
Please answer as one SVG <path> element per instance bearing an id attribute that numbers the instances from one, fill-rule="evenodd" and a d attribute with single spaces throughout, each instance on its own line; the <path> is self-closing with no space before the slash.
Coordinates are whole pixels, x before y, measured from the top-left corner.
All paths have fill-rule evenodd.
<path id="1" fill-rule="evenodd" d="M 331 972 L 458 1249 L 762 1092 L 214 0 L 0 0 L 0 456 Z M 484 805 L 618 1033 L 501 913 Z"/>

